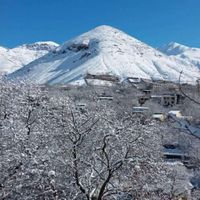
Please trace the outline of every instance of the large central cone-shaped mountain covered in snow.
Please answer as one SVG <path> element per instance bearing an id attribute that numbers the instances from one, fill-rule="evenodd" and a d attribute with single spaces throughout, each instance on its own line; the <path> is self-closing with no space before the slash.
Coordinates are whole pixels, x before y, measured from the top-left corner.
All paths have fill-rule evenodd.
<path id="1" fill-rule="evenodd" d="M 87 73 L 178 81 L 182 70 L 184 81 L 200 77 L 200 70 L 193 64 L 104 25 L 67 41 L 10 77 L 40 84 L 82 81 Z"/>

